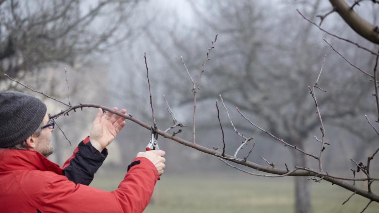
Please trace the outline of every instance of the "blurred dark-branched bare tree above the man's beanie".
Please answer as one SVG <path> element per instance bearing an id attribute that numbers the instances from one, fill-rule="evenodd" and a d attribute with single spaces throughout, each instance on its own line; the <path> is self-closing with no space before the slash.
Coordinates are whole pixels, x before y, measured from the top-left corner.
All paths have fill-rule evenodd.
<path id="1" fill-rule="evenodd" d="M 109 49 L 131 36 L 126 25 L 136 5 L 118 0 L 1 1 L 0 80 L 4 73 L 22 78 L 59 63 L 72 66 Z"/>

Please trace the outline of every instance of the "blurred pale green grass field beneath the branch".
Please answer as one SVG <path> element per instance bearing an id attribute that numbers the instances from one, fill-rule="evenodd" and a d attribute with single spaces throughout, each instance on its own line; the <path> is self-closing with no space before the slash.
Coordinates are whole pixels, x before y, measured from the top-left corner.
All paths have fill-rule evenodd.
<path id="1" fill-rule="evenodd" d="M 124 174 L 97 175 L 91 186 L 114 190 Z M 108 177 L 107 177 L 107 176 Z M 311 182 L 314 213 L 359 213 L 368 200 L 354 195 L 349 202 L 342 202 L 349 191 L 323 181 Z M 372 185 L 379 191 L 377 185 Z M 170 212 L 294 212 L 294 182 L 292 177 L 263 178 L 244 174 L 191 174 L 167 175 L 156 184 L 153 198 L 146 213 Z M 364 211 L 379 212 L 379 203 L 371 203 Z"/>

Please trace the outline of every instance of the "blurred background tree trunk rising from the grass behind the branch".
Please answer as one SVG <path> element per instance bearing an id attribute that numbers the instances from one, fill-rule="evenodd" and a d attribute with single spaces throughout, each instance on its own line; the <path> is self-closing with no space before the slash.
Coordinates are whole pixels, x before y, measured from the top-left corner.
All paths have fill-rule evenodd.
<path id="1" fill-rule="evenodd" d="M 300 149 L 303 149 L 302 144 L 299 144 L 298 147 Z M 301 152 L 295 151 L 293 156 L 294 156 L 294 163 L 296 166 L 307 165 L 306 157 Z M 309 190 L 307 177 L 295 176 L 295 212 L 296 213 L 312 212 L 311 194 Z"/>

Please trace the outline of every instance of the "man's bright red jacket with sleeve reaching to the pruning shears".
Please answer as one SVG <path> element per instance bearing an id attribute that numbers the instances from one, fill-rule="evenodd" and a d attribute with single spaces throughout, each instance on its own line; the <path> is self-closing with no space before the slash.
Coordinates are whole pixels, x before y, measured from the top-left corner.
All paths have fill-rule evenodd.
<path id="1" fill-rule="evenodd" d="M 0 149 L 2 212 L 142 212 L 159 178 L 155 166 L 135 158 L 118 189 L 75 184 L 36 151 Z"/>

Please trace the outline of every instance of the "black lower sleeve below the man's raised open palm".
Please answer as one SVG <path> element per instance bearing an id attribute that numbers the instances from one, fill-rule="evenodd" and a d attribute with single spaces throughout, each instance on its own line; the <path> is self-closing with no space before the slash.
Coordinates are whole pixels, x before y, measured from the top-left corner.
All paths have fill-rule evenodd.
<path id="1" fill-rule="evenodd" d="M 89 185 L 107 155 L 107 149 L 99 152 L 91 145 L 89 137 L 86 137 L 64 163 L 63 175 L 75 184 Z"/>

